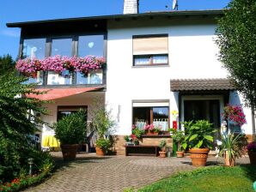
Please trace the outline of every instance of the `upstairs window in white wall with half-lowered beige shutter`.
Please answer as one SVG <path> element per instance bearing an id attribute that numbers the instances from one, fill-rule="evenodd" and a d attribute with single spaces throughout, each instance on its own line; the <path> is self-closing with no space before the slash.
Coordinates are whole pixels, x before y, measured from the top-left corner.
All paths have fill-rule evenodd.
<path id="1" fill-rule="evenodd" d="M 133 65 L 167 65 L 168 35 L 134 36 Z"/>

